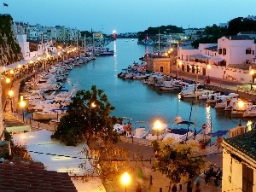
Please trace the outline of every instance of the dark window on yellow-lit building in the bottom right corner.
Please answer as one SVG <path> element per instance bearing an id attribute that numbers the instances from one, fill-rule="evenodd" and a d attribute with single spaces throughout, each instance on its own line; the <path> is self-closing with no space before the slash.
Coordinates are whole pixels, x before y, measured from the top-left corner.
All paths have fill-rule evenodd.
<path id="1" fill-rule="evenodd" d="M 253 192 L 253 169 L 242 164 L 242 191 Z"/>

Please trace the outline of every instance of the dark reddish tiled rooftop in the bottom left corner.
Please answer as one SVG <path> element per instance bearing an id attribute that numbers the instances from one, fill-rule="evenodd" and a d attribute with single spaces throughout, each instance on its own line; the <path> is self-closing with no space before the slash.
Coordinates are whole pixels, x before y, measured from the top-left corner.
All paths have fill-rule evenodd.
<path id="1" fill-rule="evenodd" d="M 77 191 L 67 172 L 46 171 L 44 166 L 28 160 L 0 164 L 0 180 L 0 191 Z"/>

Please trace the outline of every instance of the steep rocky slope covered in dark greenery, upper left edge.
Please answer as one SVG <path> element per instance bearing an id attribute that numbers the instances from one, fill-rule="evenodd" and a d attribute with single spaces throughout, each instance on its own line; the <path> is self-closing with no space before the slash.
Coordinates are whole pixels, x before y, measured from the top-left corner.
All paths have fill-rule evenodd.
<path id="1" fill-rule="evenodd" d="M 0 15 L 0 65 L 5 66 L 23 59 L 13 28 L 11 15 Z"/>

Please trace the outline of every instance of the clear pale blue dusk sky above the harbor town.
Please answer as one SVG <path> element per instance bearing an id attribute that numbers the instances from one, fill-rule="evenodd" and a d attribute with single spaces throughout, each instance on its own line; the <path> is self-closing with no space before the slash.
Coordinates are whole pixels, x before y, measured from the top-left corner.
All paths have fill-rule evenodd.
<path id="1" fill-rule="evenodd" d="M 3 3 L 9 6 L 4 7 Z M 3 3 L 0 14 L 9 14 L 14 21 L 106 34 L 143 32 L 150 26 L 202 28 L 236 17 L 256 16 L 255 0 L 3 0 Z"/>

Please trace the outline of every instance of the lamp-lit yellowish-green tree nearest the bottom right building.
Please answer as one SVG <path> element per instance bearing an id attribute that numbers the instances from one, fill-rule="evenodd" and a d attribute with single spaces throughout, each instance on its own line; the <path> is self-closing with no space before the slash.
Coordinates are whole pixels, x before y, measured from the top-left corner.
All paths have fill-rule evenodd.
<path id="1" fill-rule="evenodd" d="M 153 148 L 157 151 L 157 160 L 153 170 L 159 170 L 170 179 L 171 183 L 187 182 L 189 178 L 198 175 L 205 168 L 206 161 L 195 157 L 194 143 L 174 143 L 170 138 L 166 141 L 154 141 Z"/>

